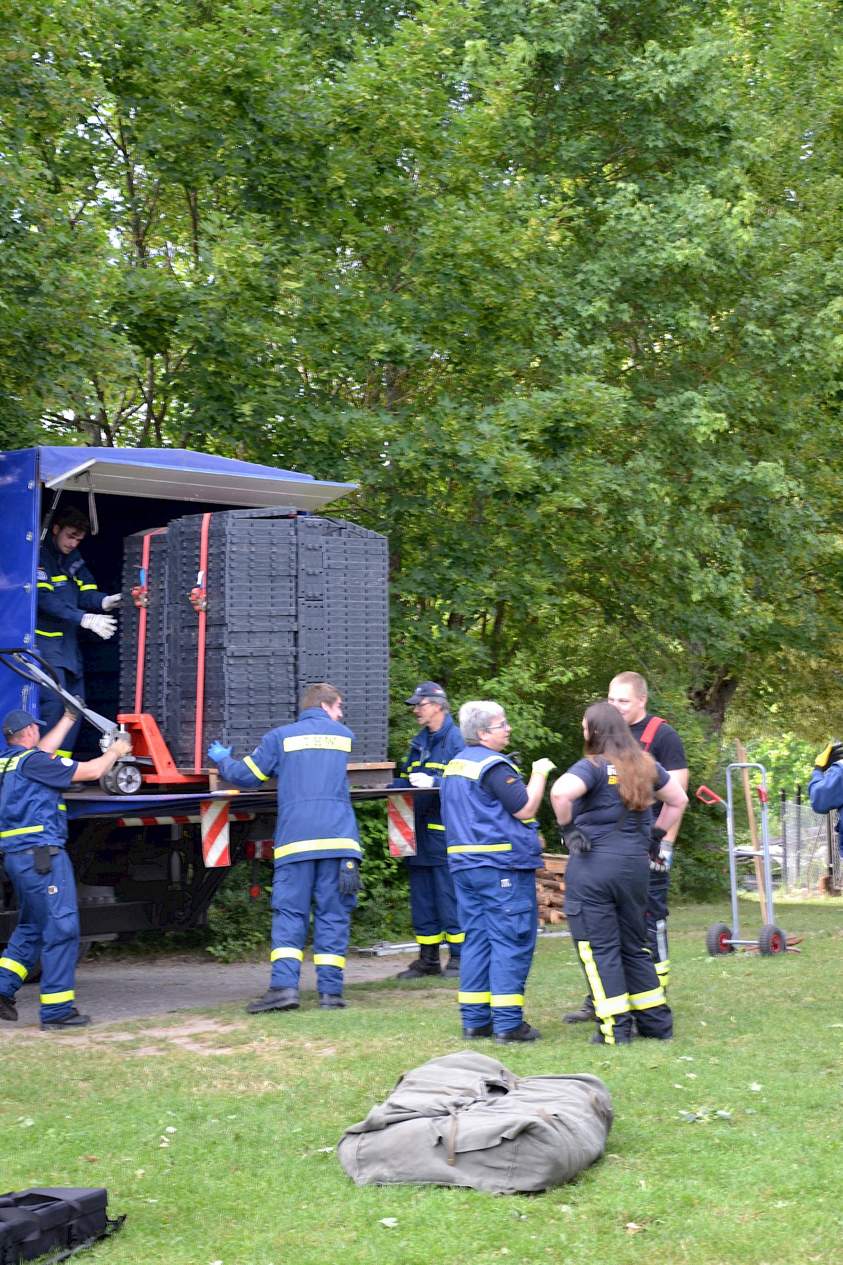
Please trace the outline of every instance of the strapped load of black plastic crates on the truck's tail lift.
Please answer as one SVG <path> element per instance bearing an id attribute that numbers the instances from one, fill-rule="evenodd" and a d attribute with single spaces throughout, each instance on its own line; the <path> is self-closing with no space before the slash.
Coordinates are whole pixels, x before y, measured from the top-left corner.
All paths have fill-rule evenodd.
<path id="1" fill-rule="evenodd" d="M 292 510 L 211 515 L 203 763 L 215 737 L 233 746 L 235 755 L 248 754 L 268 730 L 296 719 L 301 694 L 318 681 L 330 681 L 344 693 L 346 721 L 356 735 L 353 759 L 385 759 L 387 541 L 354 524 L 293 515 Z M 158 586 L 166 586 L 161 617 L 148 615 L 147 655 L 153 641 L 161 646 L 167 676 L 154 668 L 144 672 L 149 682 L 144 711 L 158 721 L 179 768 L 193 765 L 196 750 L 198 615 L 188 595 L 198 578 L 201 533 L 202 515 L 191 515 L 153 536 L 155 565 L 150 563 L 148 581 L 149 612 L 158 603 Z M 136 583 L 138 540 L 142 544 L 136 536 L 125 541 L 124 583 Z M 131 710 L 136 614 L 125 607 L 121 620 L 126 646 L 121 698 L 131 698 Z"/>

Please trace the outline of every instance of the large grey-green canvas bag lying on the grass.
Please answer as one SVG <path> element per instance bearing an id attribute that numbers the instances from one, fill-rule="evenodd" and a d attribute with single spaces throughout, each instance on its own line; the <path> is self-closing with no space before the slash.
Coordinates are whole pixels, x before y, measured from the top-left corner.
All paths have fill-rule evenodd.
<path id="1" fill-rule="evenodd" d="M 340 1138 L 356 1185 L 435 1183 L 495 1194 L 570 1182 L 605 1150 L 612 1098 L 590 1075 L 516 1077 L 463 1050 L 401 1078 Z"/>

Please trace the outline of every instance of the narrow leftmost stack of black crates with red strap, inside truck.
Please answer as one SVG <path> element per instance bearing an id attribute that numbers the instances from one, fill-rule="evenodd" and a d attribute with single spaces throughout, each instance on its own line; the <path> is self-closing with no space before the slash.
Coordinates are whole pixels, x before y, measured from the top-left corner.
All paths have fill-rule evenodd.
<path id="1" fill-rule="evenodd" d="M 149 536 L 149 565 L 143 577 L 144 540 Z M 123 541 L 123 602 L 120 605 L 120 712 L 133 713 L 139 667 L 140 611 L 131 589 L 147 588 L 147 636 L 142 711 L 153 712 L 162 732 L 167 724 L 167 531 L 139 531 Z"/>

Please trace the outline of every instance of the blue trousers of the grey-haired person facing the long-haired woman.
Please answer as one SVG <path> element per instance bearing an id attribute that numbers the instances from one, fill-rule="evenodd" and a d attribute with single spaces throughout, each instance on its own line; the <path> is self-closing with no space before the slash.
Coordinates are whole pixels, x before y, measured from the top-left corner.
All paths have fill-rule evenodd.
<path id="1" fill-rule="evenodd" d="M 460 927 L 463 1027 L 508 1032 L 523 1022 L 525 985 L 538 930 L 535 870 L 478 865 L 454 872 Z"/>

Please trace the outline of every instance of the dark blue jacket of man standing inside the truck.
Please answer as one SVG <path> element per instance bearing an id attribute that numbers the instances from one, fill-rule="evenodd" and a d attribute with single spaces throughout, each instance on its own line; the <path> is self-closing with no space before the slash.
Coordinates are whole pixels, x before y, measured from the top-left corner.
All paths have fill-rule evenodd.
<path id="1" fill-rule="evenodd" d="M 38 555 L 38 653 L 54 668 L 81 676 L 80 624 L 83 615 L 102 611 L 106 596 L 97 589 L 78 549 L 66 555 L 45 540 Z"/>

